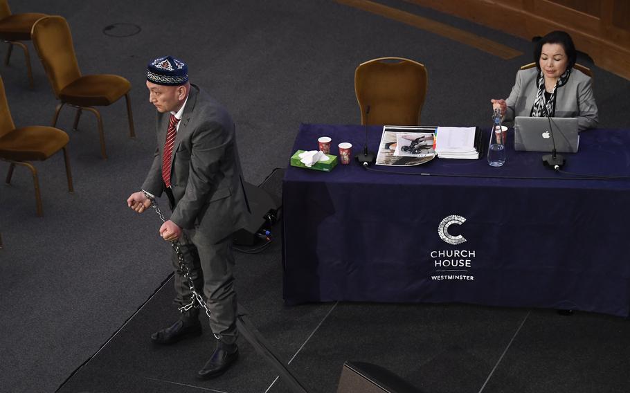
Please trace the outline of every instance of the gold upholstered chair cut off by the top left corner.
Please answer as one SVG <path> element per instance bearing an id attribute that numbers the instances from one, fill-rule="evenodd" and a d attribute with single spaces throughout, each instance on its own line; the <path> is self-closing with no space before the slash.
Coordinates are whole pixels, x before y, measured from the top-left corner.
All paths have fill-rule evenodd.
<path id="1" fill-rule="evenodd" d="M 33 88 L 33 73 L 30 69 L 30 55 L 28 55 L 28 48 L 21 41 L 30 41 L 30 30 L 33 24 L 37 19 L 45 16 L 46 14 L 36 12 L 12 14 L 7 0 L 0 0 L 0 40 L 9 44 L 4 62 L 9 65 L 14 45 L 22 48 L 26 57 L 26 72 L 31 89 Z"/>

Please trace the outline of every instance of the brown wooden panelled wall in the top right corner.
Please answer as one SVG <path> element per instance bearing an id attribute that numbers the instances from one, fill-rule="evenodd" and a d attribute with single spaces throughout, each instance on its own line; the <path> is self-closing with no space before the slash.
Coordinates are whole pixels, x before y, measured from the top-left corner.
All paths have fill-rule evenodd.
<path id="1" fill-rule="evenodd" d="M 531 39 L 565 30 L 597 66 L 630 80 L 629 0 L 407 0 Z"/>

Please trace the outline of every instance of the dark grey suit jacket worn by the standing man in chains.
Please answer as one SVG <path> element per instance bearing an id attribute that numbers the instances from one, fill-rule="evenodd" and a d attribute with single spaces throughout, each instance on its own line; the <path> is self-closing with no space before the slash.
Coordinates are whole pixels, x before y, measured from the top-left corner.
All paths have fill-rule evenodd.
<path id="1" fill-rule="evenodd" d="M 242 183 L 234 123 L 224 107 L 191 84 L 171 156 L 170 219 L 196 228 L 195 244 L 214 244 L 242 228 L 250 214 Z M 165 190 L 162 154 L 170 113 L 157 114 L 153 165 L 142 189 L 156 197 Z"/>

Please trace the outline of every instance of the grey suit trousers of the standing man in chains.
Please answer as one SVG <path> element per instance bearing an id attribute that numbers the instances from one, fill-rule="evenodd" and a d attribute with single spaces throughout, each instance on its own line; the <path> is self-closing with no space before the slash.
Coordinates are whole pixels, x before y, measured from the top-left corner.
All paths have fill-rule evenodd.
<path id="1" fill-rule="evenodd" d="M 220 336 L 219 340 L 231 345 L 236 342 L 236 291 L 234 288 L 234 255 L 232 238 L 226 237 L 217 244 L 193 244 L 195 230 L 183 230 L 186 236 L 179 238 L 181 252 L 195 291 L 203 294 L 210 310 L 210 328 Z M 192 292 L 188 280 L 179 269 L 177 253 L 172 253 L 174 268 L 175 304 L 190 304 Z M 210 274 L 212 272 L 212 274 Z M 201 313 L 204 310 L 201 309 Z"/>

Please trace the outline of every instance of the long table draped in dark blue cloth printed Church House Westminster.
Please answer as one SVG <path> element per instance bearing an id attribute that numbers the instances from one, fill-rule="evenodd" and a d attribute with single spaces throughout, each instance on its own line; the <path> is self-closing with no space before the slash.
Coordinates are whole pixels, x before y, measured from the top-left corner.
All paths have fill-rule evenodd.
<path id="1" fill-rule="evenodd" d="M 382 128 L 368 127 L 374 152 Z M 287 167 L 285 303 L 465 302 L 629 316 L 630 179 L 586 178 L 630 176 L 630 130 L 582 132 L 579 153 L 564 154 L 562 170 L 573 174 L 544 167 L 543 153 L 515 152 L 513 130 L 507 135 L 503 167 L 485 156 Z M 320 136 L 332 138 L 330 154 L 341 142 L 357 153 L 366 130 L 304 124 L 293 152 L 317 149 Z"/>

